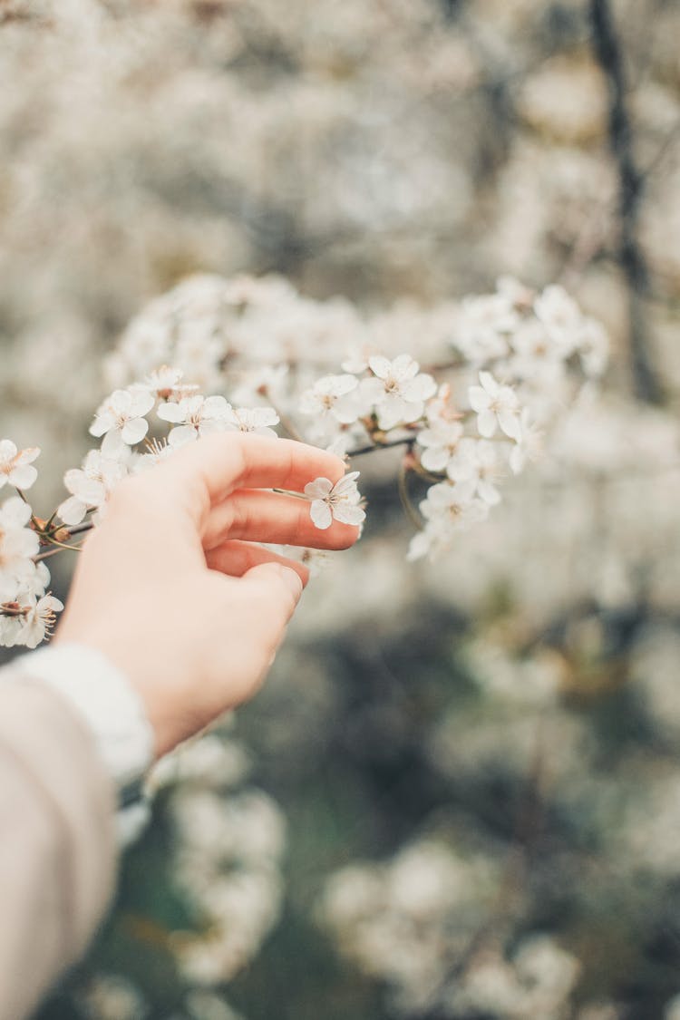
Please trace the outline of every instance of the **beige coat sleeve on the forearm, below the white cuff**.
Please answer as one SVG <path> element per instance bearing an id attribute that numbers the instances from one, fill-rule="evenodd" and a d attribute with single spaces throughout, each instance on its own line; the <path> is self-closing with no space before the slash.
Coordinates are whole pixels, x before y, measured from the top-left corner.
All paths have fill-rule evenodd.
<path id="1" fill-rule="evenodd" d="M 115 793 L 95 741 L 31 657 L 0 670 L 0 1020 L 82 955 L 113 888 Z"/>

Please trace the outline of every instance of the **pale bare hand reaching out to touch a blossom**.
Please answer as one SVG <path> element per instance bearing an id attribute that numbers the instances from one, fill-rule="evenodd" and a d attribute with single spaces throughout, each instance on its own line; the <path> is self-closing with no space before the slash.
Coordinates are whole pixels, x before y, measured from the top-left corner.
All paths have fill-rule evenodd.
<path id="1" fill-rule="evenodd" d="M 140 694 L 157 756 L 251 698 L 309 579 L 274 543 L 347 549 L 359 529 L 319 530 L 302 492 L 345 474 L 338 457 L 226 432 L 122 481 L 79 557 L 56 644 L 104 653 Z"/>

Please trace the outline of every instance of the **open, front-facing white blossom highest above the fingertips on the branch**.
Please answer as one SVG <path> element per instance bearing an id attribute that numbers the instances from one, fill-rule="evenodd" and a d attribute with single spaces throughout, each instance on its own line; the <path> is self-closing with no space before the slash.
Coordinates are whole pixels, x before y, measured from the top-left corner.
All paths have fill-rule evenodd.
<path id="1" fill-rule="evenodd" d="M 436 393 L 436 382 L 431 375 L 418 372 L 418 362 L 411 355 L 400 354 L 394 361 L 373 355 L 368 364 L 373 377 L 362 379 L 360 392 L 377 414 L 380 428 L 422 417 L 425 401 Z"/>

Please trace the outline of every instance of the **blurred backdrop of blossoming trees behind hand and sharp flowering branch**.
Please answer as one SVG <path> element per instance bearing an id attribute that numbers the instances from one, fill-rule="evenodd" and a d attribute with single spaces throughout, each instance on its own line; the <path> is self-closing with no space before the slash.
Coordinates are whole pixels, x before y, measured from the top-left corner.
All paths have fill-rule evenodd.
<path id="1" fill-rule="evenodd" d="M 366 465 L 360 547 L 159 777 L 41 1020 L 680 1018 L 679 42 L 677 0 L 1 0 L 0 434 L 46 507 L 188 274 L 418 358 L 510 273 L 612 345 L 559 469 L 447 559 Z"/>

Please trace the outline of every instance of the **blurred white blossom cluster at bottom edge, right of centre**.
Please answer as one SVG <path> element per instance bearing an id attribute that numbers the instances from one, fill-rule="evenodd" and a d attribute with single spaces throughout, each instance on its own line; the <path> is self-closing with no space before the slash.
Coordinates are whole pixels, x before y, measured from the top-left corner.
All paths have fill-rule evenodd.
<path id="1" fill-rule="evenodd" d="M 480 940 L 468 959 L 493 902 L 496 867 L 422 838 L 384 864 L 353 864 L 331 875 L 319 920 L 345 956 L 386 983 L 398 1016 L 560 1020 L 579 965 L 551 936 L 524 937 L 510 959 L 500 940 Z"/>

